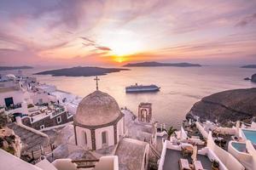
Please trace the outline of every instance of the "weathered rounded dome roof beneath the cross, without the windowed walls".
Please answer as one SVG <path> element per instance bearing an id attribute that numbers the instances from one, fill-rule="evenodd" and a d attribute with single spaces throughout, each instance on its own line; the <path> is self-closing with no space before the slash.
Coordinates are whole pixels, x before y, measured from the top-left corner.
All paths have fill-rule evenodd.
<path id="1" fill-rule="evenodd" d="M 74 122 L 84 126 L 100 126 L 114 122 L 120 114 L 116 100 L 96 90 L 80 101 Z"/>

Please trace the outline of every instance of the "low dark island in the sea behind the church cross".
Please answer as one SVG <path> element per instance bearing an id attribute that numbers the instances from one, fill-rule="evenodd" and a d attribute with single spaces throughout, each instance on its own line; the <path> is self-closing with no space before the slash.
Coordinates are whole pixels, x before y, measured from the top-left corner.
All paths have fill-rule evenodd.
<path id="1" fill-rule="evenodd" d="M 129 71 L 129 69 L 78 66 L 51 71 L 42 71 L 35 73 L 35 75 L 51 75 L 53 77 L 93 77 L 107 75 L 108 73 L 119 71 Z"/>

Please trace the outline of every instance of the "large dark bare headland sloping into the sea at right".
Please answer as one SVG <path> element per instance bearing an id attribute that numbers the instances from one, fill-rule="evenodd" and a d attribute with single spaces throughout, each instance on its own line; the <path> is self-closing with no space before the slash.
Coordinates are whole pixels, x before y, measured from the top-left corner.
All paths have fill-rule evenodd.
<path id="1" fill-rule="evenodd" d="M 250 122 L 256 116 L 256 88 L 234 89 L 209 95 L 195 103 L 186 118 L 200 116 L 201 121 Z"/>

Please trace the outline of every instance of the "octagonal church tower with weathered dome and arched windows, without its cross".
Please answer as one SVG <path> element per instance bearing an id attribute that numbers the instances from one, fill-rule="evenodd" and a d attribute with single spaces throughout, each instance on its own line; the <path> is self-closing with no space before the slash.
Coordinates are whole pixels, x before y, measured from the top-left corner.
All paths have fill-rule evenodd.
<path id="1" fill-rule="evenodd" d="M 116 100 L 99 90 L 81 100 L 73 124 L 75 142 L 86 150 L 117 144 L 125 133 L 124 115 Z"/>

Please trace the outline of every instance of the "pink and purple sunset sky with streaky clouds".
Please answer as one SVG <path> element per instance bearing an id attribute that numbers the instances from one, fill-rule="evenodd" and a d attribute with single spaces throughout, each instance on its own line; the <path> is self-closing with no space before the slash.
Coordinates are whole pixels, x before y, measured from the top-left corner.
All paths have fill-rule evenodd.
<path id="1" fill-rule="evenodd" d="M 256 64 L 256 0 L 1 0 L 0 65 Z"/>

